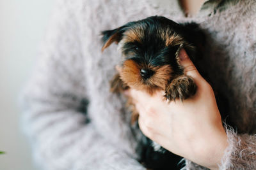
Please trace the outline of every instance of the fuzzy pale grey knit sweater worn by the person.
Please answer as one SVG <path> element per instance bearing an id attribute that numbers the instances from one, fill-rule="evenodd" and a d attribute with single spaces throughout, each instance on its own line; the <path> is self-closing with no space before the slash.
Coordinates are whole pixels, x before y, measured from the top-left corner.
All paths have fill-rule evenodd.
<path id="1" fill-rule="evenodd" d="M 173 1 L 173 6 L 177 3 Z M 22 92 L 23 122 L 43 169 L 145 169 L 136 161 L 125 97 L 109 92 L 120 63 L 116 46 L 100 52 L 100 31 L 152 15 L 193 20 L 207 33 L 202 67 L 228 96 L 229 146 L 220 169 L 256 169 L 256 3 L 185 18 L 147 0 L 61 0 L 38 64 Z M 174 10 L 175 9 L 175 10 Z M 250 133 L 250 134 L 249 134 Z M 204 169 L 186 160 L 186 169 Z"/>

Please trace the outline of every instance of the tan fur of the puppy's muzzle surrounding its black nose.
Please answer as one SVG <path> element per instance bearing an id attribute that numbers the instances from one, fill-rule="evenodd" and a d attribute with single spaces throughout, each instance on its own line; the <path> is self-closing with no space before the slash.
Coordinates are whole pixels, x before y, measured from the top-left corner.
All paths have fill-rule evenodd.
<path id="1" fill-rule="evenodd" d="M 151 69 L 155 73 L 147 80 L 143 80 L 140 75 L 141 68 Z M 168 81 L 172 78 L 171 74 L 172 68 L 168 65 L 161 67 L 140 66 L 133 60 L 126 60 L 122 67 L 120 77 L 129 87 L 137 90 L 145 90 L 149 94 L 154 94 L 156 90 L 165 89 Z"/>

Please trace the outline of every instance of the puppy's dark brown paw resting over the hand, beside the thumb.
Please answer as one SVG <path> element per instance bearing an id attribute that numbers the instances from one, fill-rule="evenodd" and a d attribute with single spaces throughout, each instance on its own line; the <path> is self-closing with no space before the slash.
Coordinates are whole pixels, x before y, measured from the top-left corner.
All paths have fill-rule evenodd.
<path id="1" fill-rule="evenodd" d="M 191 76 L 179 76 L 172 80 L 170 85 L 165 89 L 166 99 L 170 101 L 175 101 L 180 99 L 188 99 L 196 93 L 196 84 Z"/>

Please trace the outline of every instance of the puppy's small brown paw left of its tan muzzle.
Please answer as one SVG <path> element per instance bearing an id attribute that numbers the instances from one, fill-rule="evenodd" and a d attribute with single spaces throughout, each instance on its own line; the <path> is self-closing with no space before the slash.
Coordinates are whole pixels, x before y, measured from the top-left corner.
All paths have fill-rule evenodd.
<path id="1" fill-rule="evenodd" d="M 124 81 L 121 80 L 120 74 L 116 73 L 110 81 L 110 91 L 119 93 L 127 89 L 129 89 L 129 87 L 124 83 Z"/>

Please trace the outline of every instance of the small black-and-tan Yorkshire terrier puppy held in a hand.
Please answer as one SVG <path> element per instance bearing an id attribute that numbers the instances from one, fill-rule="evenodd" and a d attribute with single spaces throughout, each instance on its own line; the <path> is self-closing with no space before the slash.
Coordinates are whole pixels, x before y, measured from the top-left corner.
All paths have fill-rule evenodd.
<path id="1" fill-rule="evenodd" d="M 196 93 L 195 81 L 186 76 L 180 66 L 179 52 L 184 48 L 192 61 L 196 59 L 204 37 L 198 25 L 177 24 L 168 18 L 154 16 L 103 31 L 102 36 L 102 51 L 115 42 L 124 57 L 120 73 L 111 81 L 112 92 L 123 92 L 130 87 L 148 94 L 164 90 L 164 97 L 169 101 L 182 101 Z M 132 112 L 131 122 L 134 123 L 138 113 Z M 138 156 L 145 167 L 178 168 L 181 157 L 145 136 L 138 140 Z"/>

